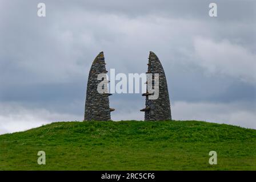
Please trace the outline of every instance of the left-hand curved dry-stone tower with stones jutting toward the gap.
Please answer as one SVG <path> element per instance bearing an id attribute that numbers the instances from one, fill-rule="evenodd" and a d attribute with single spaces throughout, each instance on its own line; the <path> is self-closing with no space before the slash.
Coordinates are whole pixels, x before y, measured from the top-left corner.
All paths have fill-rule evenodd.
<path id="1" fill-rule="evenodd" d="M 101 80 L 97 80 L 100 73 L 106 74 L 106 64 L 103 52 L 95 57 L 87 81 L 85 101 L 85 121 L 109 121 L 110 112 L 114 109 L 109 107 L 109 93 L 98 93 L 97 87 Z"/>

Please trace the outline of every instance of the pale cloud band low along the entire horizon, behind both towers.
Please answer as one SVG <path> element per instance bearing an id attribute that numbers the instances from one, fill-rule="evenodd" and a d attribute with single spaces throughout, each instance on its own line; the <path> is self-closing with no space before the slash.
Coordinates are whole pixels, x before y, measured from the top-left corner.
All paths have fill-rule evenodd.
<path id="1" fill-rule="evenodd" d="M 139 105 L 139 104 L 138 104 Z M 243 109 L 244 103 L 211 104 L 201 102 L 175 102 L 171 107 L 175 120 L 196 120 L 225 123 L 256 129 L 254 110 Z M 53 113 L 46 109 L 26 109 L 21 105 L 0 105 L 0 134 L 25 131 L 57 121 L 82 121 L 82 115 Z M 138 108 L 122 108 L 113 115 L 114 121 L 140 120 L 143 115 Z M 15 110 L 15 113 L 10 112 Z"/>

